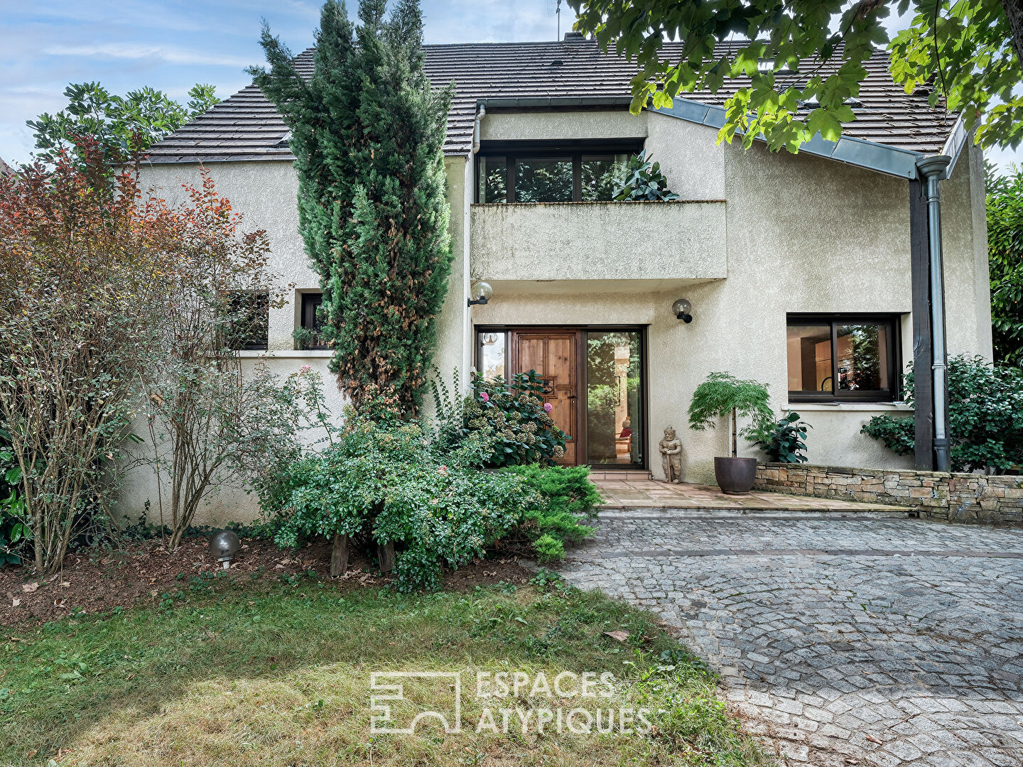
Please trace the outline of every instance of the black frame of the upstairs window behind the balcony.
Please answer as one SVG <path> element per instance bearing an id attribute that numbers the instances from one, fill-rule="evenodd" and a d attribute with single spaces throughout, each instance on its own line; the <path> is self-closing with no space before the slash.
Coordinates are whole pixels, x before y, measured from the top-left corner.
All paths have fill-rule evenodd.
<path id="1" fill-rule="evenodd" d="M 637 154 L 643 148 L 646 139 L 586 139 L 570 141 L 486 141 L 477 153 L 478 157 L 504 157 L 504 178 L 507 185 L 507 199 L 503 202 L 482 205 L 519 204 L 515 195 L 515 164 L 517 160 L 572 160 L 572 201 L 582 201 L 582 159 L 591 155 L 614 156 L 615 154 Z M 477 163 L 473 180 L 473 201 L 480 202 L 480 164 Z M 541 204 L 543 205 L 543 204 Z"/>

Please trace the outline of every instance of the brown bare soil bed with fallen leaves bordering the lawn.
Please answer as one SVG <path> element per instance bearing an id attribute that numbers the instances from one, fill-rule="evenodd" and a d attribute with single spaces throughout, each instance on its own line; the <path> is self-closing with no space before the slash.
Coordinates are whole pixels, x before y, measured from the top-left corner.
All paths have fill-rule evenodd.
<path id="1" fill-rule="evenodd" d="M 462 591 L 477 586 L 527 583 L 531 574 L 518 556 L 497 554 L 445 572 L 444 587 Z M 310 543 L 298 550 L 280 549 L 262 538 L 242 538 L 241 548 L 226 571 L 228 577 L 269 582 L 300 574 L 327 578 L 330 544 Z M 28 567 L 0 568 L 0 626 L 56 621 L 73 614 L 104 613 L 115 607 L 158 603 L 168 592 L 185 589 L 191 579 L 221 570 L 210 554 L 205 537 L 185 538 L 173 552 L 160 540 L 142 541 L 117 549 L 79 549 L 64 558 L 63 570 L 48 579 L 35 577 Z M 311 572 L 312 571 L 312 572 Z M 362 553 L 349 553 L 348 572 L 332 579 L 339 588 L 385 586 L 388 576 L 375 573 Z"/>

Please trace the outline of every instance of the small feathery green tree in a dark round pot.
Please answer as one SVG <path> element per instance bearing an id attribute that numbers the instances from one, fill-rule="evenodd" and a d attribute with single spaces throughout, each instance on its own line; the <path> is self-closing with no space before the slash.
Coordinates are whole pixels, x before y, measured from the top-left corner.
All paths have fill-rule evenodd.
<path id="1" fill-rule="evenodd" d="M 774 412 L 767 400 L 766 386 L 755 380 L 739 380 L 730 373 L 711 373 L 693 393 L 690 428 L 703 432 L 713 428 L 717 418 L 728 418 L 731 457 L 714 458 L 714 477 L 725 493 L 739 495 L 753 488 L 757 459 L 739 457 L 739 436 L 754 442 L 758 435 L 773 425 Z M 739 416 L 751 419 L 742 431 Z"/>

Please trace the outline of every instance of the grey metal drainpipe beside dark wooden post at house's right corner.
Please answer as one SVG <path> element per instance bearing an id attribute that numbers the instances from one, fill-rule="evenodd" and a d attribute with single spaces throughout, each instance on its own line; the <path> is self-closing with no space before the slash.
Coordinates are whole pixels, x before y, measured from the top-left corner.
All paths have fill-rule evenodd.
<path id="1" fill-rule="evenodd" d="M 925 157 L 917 163 L 927 184 L 927 240 L 931 277 L 931 369 L 934 380 L 934 468 L 948 471 L 948 371 L 945 342 L 945 287 L 941 261 L 941 193 L 938 183 L 945 178 L 951 161 L 947 154 Z"/>

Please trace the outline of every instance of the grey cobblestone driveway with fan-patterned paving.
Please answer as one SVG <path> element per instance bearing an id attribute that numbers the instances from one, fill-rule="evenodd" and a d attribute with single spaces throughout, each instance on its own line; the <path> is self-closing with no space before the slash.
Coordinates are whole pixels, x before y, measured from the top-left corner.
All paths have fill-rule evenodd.
<path id="1" fill-rule="evenodd" d="M 661 613 L 789 764 L 1023 765 L 1023 532 L 609 510 L 561 568 Z"/>

